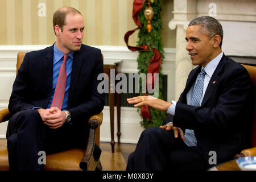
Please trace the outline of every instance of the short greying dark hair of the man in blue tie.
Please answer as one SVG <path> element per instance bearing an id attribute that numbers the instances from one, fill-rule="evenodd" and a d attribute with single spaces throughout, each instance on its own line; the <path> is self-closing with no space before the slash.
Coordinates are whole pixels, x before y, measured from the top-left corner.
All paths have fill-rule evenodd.
<path id="1" fill-rule="evenodd" d="M 193 25 L 200 25 L 201 26 L 201 32 L 209 38 L 213 38 L 215 35 L 220 35 L 221 42 L 220 42 L 220 48 L 222 46 L 222 40 L 223 40 L 223 29 L 218 22 L 217 19 L 211 17 L 211 16 L 200 16 L 198 18 L 193 19 L 188 26 Z"/>

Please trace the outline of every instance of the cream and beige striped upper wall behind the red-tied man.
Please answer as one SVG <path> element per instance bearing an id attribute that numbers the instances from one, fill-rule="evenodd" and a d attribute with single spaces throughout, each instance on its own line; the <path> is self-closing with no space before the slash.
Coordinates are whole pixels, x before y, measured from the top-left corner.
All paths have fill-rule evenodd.
<path id="1" fill-rule="evenodd" d="M 175 47 L 175 31 L 168 28 L 172 18 L 174 0 L 163 1 L 163 46 Z M 39 3 L 46 6 L 46 15 Z M 125 33 L 136 27 L 132 18 L 132 0 L 0 0 L 0 45 L 52 44 L 55 34 L 53 13 L 63 6 L 78 9 L 85 22 L 84 42 L 97 46 L 125 46 Z M 131 35 L 129 44 L 136 45 L 138 31 Z"/>

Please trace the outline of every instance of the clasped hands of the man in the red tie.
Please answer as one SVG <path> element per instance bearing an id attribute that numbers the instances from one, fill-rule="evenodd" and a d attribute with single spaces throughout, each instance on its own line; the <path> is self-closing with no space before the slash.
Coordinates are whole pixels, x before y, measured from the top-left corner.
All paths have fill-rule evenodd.
<path id="1" fill-rule="evenodd" d="M 51 109 L 38 109 L 38 112 L 43 123 L 49 126 L 50 129 L 57 129 L 65 123 L 65 112 L 57 107 L 51 107 Z"/>

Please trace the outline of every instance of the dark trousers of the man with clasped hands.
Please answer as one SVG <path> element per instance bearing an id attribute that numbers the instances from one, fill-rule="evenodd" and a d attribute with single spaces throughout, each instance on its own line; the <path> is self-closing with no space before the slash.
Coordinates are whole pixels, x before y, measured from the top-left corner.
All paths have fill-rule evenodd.
<path id="1" fill-rule="evenodd" d="M 42 156 L 39 151 L 48 155 L 70 148 L 85 149 L 87 135 L 86 129 L 77 130 L 69 123 L 64 123 L 58 129 L 50 129 L 43 124 L 37 110 L 20 111 L 10 118 L 7 127 L 10 170 L 43 170 L 44 165 L 38 162 Z"/>

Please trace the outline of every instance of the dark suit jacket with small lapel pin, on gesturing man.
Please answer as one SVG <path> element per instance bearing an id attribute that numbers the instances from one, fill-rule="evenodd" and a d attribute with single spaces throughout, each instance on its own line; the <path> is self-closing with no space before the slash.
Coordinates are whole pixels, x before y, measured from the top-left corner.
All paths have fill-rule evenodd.
<path id="1" fill-rule="evenodd" d="M 254 88 L 246 69 L 223 55 L 210 78 L 201 106 L 187 105 L 186 95 L 200 71 L 201 66 L 189 73 L 175 115 L 168 114 L 164 124 L 173 121 L 173 125 L 183 131 L 193 129 L 197 146 L 209 167 L 210 151 L 216 152 L 217 163 L 222 163 L 250 147 Z"/>

